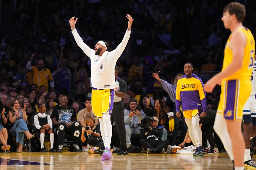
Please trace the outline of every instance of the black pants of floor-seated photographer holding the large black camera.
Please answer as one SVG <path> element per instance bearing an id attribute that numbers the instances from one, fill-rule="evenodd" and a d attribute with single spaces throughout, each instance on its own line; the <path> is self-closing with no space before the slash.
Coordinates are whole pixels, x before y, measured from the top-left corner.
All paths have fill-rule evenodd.
<path id="1" fill-rule="evenodd" d="M 148 142 L 147 139 L 140 139 L 140 145 L 143 149 L 155 149 L 155 152 L 161 152 L 163 148 L 167 148 L 167 146 L 170 144 L 170 139 L 166 139 L 164 141 L 161 140 L 155 140 L 154 142 Z"/>

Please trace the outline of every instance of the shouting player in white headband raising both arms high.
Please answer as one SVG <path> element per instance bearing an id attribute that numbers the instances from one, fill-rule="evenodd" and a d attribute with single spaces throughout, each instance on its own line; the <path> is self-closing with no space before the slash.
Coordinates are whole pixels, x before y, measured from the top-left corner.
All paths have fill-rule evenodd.
<path id="1" fill-rule="evenodd" d="M 117 59 L 123 53 L 124 48 L 130 38 L 133 18 L 127 14 L 128 28 L 124 34 L 122 42 L 117 48 L 108 52 L 108 41 L 98 41 L 94 50 L 89 48 L 76 31 L 77 19 L 70 18 L 69 24 L 77 45 L 91 59 L 91 81 L 92 81 L 92 113 L 99 118 L 102 140 L 105 145 L 101 160 L 113 159 L 110 151 L 112 135 L 112 125 L 110 115 L 112 113 L 115 88 L 115 65 Z M 106 70 L 105 70 L 106 69 Z M 104 71 L 105 70 L 105 71 Z"/>

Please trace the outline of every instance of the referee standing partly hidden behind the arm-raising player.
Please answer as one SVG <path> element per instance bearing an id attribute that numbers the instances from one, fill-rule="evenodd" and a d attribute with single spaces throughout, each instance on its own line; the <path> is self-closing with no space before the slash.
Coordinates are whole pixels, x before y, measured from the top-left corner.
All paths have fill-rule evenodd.
<path id="1" fill-rule="evenodd" d="M 114 105 L 111 115 L 111 123 L 116 124 L 116 129 L 120 139 L 120 150 L 117 152 L 117 155 L 127 155 L 127 147 L 126 147 L 126 132 L 125 132 L 125 124 L 124 124 L 124 103 L 123 98 L 127 92 L 127 85 L 125 81 L 121 78 L 118 78 L 117 75 L 119 73 L 119 67 L 115 66 L 115 97 L 114 97 Z"/>

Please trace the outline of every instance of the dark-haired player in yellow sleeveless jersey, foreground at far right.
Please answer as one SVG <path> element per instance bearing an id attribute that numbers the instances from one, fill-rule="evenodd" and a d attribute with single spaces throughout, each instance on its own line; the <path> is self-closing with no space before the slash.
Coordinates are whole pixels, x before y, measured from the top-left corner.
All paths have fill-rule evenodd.
<path id="1" fill-rule="evenodd" d="M 251 31 L 243 26 L 244 5 L 232 2 L 223 10 L 221 20 L 231 34 L 224 50 L 220 73 L 205 85 L 205 92 L 212 92 L 221 85 L 220 103 L 214 130 L 220 137 L 228 155 L 234 161 L 235 170 L 244 169 L 244 139 L 241 131 L 243 107 L 252 92 L 251 74 L 255 41 Z"/>

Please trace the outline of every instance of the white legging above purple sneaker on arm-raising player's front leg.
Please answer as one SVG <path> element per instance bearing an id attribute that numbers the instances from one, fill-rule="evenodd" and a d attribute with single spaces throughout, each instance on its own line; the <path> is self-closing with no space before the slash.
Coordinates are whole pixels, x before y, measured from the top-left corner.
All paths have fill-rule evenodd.
<path id="1" fill-rule="evenodd" d="M 103 122 L 104 122 L 104 134 L 105 134 L 105 148 L 108 147 L 110 149 L 111 137 L 112 137 L 112 124 L 110 121 L 110 115 L 105 114 L 103 115 Z"/>

